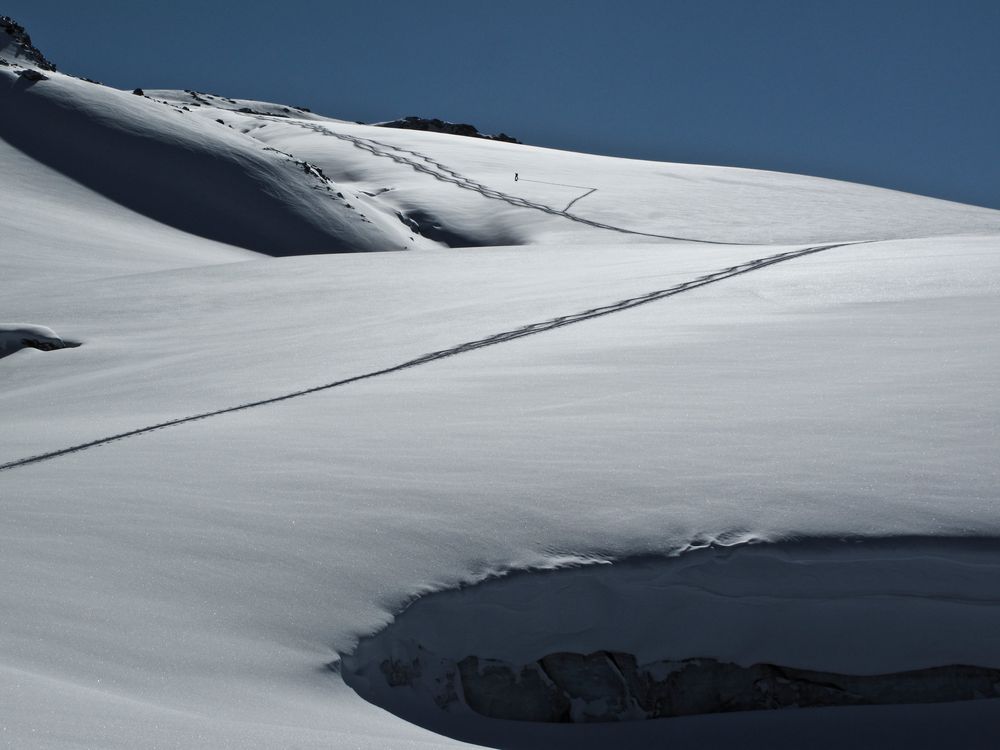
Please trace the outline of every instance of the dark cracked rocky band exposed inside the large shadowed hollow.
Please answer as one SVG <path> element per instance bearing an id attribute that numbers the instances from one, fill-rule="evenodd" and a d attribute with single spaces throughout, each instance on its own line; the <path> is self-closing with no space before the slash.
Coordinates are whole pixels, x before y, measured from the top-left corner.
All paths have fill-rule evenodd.
<path id="1" fill-rule="evenodd" d="M 388 685 L 429 689 L 435 703 L 464 703 L 495 719 L 587 723 L 781 708 L 939 703 L 1000 698 L 1000 669 L 967 665 L 879 675 L 818 672 L 716 659 L 639 665 L 631 654 L 556 653 L 523 665 L 422 649 L 380 665 Z M 427 679 L 433 676 L 432 679 Z"/>

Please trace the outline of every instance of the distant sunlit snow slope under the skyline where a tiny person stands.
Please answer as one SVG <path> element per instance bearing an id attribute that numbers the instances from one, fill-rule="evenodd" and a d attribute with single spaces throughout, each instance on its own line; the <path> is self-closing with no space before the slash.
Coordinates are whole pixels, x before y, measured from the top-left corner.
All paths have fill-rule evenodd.
<path id="1" fill-rule="evenodd" d="M 205 108 L 198 114 L 212 116 Z M 226 121 L 468 246 L 601 243 L 612 231 L 630 242 L 818 244 L 1000 229 L 989 209 L 801 175 L 614 159 L 315 118 L 235 113 Z"/>

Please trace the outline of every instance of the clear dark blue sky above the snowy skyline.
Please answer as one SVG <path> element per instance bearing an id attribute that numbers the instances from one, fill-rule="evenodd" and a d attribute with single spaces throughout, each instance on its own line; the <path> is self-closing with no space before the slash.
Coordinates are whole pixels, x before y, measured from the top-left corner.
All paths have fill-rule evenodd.
<path id="1" fill-rule="evenodd" d="M 998 0 L 5 0 L 65 72 L 1000 208 Z"/>

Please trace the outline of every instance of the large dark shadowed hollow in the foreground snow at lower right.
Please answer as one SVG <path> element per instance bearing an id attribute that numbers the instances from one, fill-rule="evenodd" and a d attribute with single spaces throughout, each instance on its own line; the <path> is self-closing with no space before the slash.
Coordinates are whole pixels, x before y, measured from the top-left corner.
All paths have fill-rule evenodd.
<path id="1" fill-rule="evenodd" d="M 525 572 L 421 597 L 339 668 L 369 701 L 491 747 L 985 747 L 998 579 L 995 541 L 932 539 Z"/>

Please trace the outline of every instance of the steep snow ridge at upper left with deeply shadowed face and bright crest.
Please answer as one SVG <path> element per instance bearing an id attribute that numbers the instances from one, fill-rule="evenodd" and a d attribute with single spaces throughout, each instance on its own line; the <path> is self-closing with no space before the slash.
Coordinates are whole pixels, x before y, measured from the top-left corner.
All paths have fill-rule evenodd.
<path id="1" fill-rule="evenodd" d="M 430 243 L 312 165 L 154 102 L 57 73 L 31 86 L 0 70 L 3 139 L 138 213 L 270 255 Z"/>

